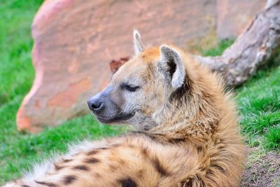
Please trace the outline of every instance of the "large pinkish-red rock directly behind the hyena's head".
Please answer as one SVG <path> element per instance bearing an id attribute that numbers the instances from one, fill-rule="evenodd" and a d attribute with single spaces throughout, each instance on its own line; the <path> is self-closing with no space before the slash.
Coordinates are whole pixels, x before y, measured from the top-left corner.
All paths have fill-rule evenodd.
<path id="1" fill-rule="evenodd" d="M 19 130 L 89 112 L 86 101 L 111 78 L 109 62 L 132 55 L 132 30 L 146 43 L 186 46 L 216 25 L 216 0 L 47 0 L 32 25 L 36 78 L 18 111 Z"/>

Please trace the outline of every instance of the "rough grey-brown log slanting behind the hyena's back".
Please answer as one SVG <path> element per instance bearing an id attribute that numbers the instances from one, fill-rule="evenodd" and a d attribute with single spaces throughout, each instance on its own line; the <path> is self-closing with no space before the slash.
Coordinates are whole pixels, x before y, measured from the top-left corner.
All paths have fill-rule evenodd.
<path id="1" fill-rule="evenodd" d="M 265 10 L 238 36 L 223 55 L 195 56 L 202 64 L 221 72 L 228 85 L 241 85 L 280 46 L 280 1 L 269 0 Z"/>

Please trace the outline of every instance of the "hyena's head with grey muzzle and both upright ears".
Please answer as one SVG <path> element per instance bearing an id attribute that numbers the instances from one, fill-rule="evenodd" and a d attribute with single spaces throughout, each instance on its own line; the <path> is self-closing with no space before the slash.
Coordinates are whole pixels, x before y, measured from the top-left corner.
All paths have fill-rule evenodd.
<path id="1" fill-rule="evenodd" d="M 134 50 L 134 57 L 87 104 L 102 123 L 127 123 L 149 130 L 168 120 L 165 111 L 172 105 L 172 95 L 186 84 L 182 60 L 186 54 L 166 45 L 145 49 L 137 31 Z"/>

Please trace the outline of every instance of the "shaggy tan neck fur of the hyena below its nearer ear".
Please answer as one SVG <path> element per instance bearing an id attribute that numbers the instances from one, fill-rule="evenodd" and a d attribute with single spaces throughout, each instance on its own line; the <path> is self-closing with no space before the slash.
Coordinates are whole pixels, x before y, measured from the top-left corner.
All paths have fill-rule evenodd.
<path id="1" fill-rule="evenodd" d="M 186 83 L 172 96 L 166 112 L 162 113 L 162 123 L 148 133 L 169 143 L 192 141 L 204 144 L 214 134 L 221 120 L 214 99 L 211 92 L 190 87 Z"/>

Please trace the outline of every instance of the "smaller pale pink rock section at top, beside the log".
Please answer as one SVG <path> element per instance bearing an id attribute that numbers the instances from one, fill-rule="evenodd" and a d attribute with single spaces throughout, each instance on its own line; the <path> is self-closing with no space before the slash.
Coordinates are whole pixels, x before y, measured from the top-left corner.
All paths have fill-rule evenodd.
<path id="1" fill-rule="evenodd" d="M 265 0 L 217 1 L 217 34 L 219 39 L 235 39 L 265 8 Z"/>

